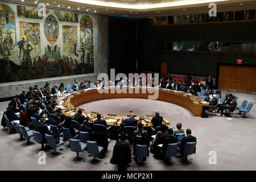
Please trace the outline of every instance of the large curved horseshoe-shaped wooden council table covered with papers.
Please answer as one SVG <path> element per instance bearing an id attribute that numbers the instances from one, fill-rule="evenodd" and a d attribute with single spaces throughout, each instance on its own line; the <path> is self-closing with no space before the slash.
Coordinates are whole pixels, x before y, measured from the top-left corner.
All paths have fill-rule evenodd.
<path id="1" fill-rule="evenodd" d="M 112 89 L 112 90 L 110 90 Z M 144 98 L 148 99 L 148 96 L 152 96 L 153 94 L 149 94 L 148 92 L 152 93 L 152 89 L 154 89 L 155 92 L 158 91 L 159 96 L 156 100 L 158 101 L 165 101 L 170 102 L 173 104 L 177 104 L 180 106 L 183 106 L 190 110 L 194 116 L 201 116 L 203 106 L 209 106 L 208 104 L 201 104 L 201 101 L 204 101 L 200 97 L 196 96 L 187 96 L 184 92 L 174 92 L 173 90 L 163 90 L 163 89 L 156 89 L 156 88 L 147 88 L 148 92 L 142 93 L 142 88 L 129 88 L 127 89 L 127 93 L 117 93 L 115 88 L 105 88 L 105 89 L 92 89 L 92 90 L 80 90 L 78 92 L 73 92 L 69 94 L 65 94 L 64 97 L 64 103 L 61 104 L 65 109 L 63 109 L 63 113 L 66 116 L 74 117 L 71 113 L 67 113 L 68 111 L 73 111 L 73 113 L 77 113 L 77 110 L 79 108 L 77 106 L 92 102 L 92 101 L 98 101 L 98 100 L 106 100 L 111 98 Z M 135 93 L 135 89 L 137 89 L 137 93 Z M 99 93 L 105 92 L 105 93 Z M 138 92 L 139 91 L 139 92 Z M 110 93 L 112 92 L 112 93 Z M 114 92 L 114 93 L 113 93 Z M 132 93 L 131 93 L 132 92 Z M 57 100 L 59 103 L 61 100 Z M 61 106 L 61 105 L 57 105 Z M 90 115 L 89 122 L 93 123 L 97 118 L 97 113 L 92 113 L 92 111 L 85 111 L 82 110 L 82 112 L 85 115 Z M 151 123 L 151 119 L 154 117 L 153 115 L 150 116 L 138 116 L 135 117 L 135 119 L 138 119 L 139 122 L 143 123 L 144 127 L 151 127 L 153 126 Z M 127 116 L 110 116 L 110 115 L 102 115 L 102 118 L 104 119 L 115 119 L 113 122 L 107 122 L 109 126 L 119 126 L 122 121 L 125 118 L 128 118 Z M 167 119 L 163 119 L 164 125 L 170 125 L 170 121 Z"/>

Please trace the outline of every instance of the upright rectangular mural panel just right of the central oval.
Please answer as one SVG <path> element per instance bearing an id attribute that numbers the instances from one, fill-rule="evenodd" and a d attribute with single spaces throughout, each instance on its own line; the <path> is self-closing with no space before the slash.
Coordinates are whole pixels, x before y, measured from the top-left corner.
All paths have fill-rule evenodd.
<path id="1" fill-rule="evenodd" d="M 79 56 L 77 54 L 77 26 L 63 26 L 63 55 Z"/>

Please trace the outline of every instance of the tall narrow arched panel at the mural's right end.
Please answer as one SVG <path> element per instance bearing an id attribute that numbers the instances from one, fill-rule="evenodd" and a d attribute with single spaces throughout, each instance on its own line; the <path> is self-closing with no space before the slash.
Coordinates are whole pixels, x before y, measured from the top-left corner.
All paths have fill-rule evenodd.
<path id="1" fill-rule="evenodd" d="M 81 62 L 93 64 L 93 21 L 90 16 L 82 16 L 80 20 Z"/>

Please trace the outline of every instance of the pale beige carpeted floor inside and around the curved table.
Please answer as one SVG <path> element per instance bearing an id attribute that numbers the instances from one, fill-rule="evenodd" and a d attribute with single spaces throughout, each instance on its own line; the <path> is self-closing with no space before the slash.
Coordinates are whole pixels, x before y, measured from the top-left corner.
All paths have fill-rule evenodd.
<path id="1" fill-rule="evenodd" d="M 222 96 L 225 95 L 222 91 Z M 252 94 L 233 93 L 238 96 L 238 105 L 243 100 L 253 102 L 246 118 L 238 115 L 236 110 L 232 119 L 228 117 L 201 118 L 193 117 L 191 112 L 183 107 L 162 101 L 142 99 L 114 99 L 90 102 L 80 107 L 89 111 L 98 111 L 102 114 L 129 115 L 134 111 L 136 115 L 154 114 L 159 110 L 164 118 L 171 121 L 170 127 L 175 127 L 176 122 L 183 124 L 183 129 L 191 129 L 192 135 L 197 137 L 196 154 L 188 156 L 188 164 L 180 158 L 172 158 L 172 165 L 168 166 L 162 160 L 149 158 L 143 166 L 138 166 L 134 160 L 127 170 L 255 170 L 256 159 L 256 96 Z M 8 102 L 0 103 L 0 118 Z M 5 129 L 0 130 L 0 169 L 1 170 L 117 170 L 117 166 L 109 164 L 112 157 L 115 140 L 109 144 L 108 152 L 104 159 L 91 163 L 92 156 L 86 151 L 80 153 L 81 159 L 76 160 L 76 153 L 68 148 L 68 142 L 59 148 L 59 154 L 53 156 L 46 151 L 46 165 L 39 165 L 37 154 L 40 144 L 32 140 L 26 145 L 26 140 L 20 141 L 16 133 L 6 134 Z M 217 154 L 217 164 L 209 164 L 209 152 Z"/>

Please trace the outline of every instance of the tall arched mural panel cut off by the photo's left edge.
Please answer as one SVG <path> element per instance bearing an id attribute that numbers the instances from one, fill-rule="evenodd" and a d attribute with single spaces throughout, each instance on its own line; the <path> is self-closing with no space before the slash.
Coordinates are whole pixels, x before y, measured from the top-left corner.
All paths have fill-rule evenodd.
<path id="1" fill-rule="evenodd" d="M 13 10 L 0 4 L 0 58 L 15 56 L 15 15 Z"/>

